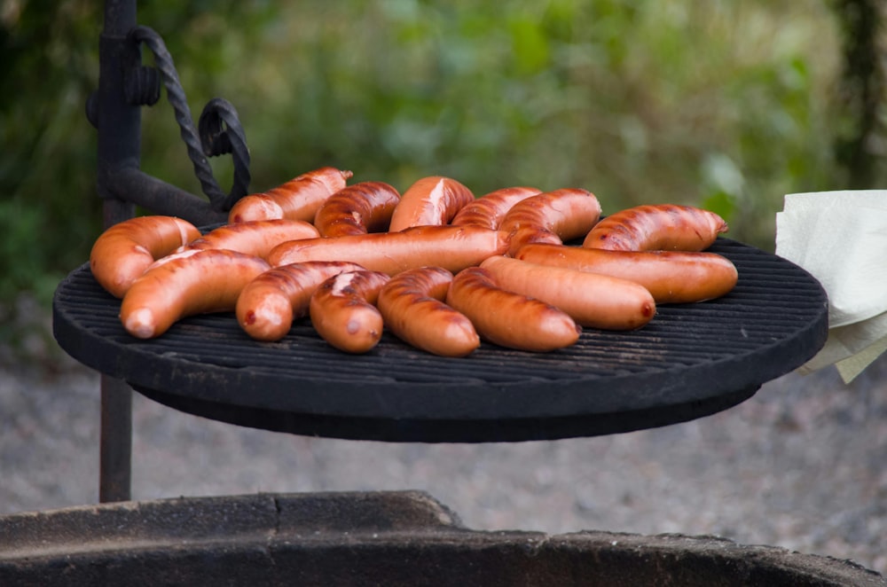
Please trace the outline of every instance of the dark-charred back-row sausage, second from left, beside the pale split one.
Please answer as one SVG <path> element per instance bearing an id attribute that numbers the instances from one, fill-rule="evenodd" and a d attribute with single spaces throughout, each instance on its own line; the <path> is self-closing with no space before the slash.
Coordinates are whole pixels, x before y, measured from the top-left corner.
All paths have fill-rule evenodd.
<path id="1" fill-rule="evenodd" d="M 388 230 L 400 193 L 383 182 L 361 182 L 335 192 L 318 209 L 314 225 L 322 237 Z"/>

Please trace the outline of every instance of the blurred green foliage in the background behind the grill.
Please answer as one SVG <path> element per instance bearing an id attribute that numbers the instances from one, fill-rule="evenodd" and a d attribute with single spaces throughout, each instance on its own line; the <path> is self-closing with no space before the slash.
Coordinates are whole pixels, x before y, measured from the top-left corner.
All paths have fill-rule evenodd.
<path id="1" fill-rule="evenodd" d="M 253 191 L 324 165 L 402 191 L 433 174 L 478 195 L 581 186 L 605 213 L 709 207 L 772 249 L 785 193 L 846 184 L 840 31 L 822 0 L 144 4 L 192 113 L 215 97 L 238 109 Z M 21 292 L 48 307 L 100 230 L 84 104 L 102 11 L 0 1 L 4 318 Z M 142 167 L 199 193 L 165 98 L 142 116 Z M 213 165 L 227 189 L 230 161 Z"/>

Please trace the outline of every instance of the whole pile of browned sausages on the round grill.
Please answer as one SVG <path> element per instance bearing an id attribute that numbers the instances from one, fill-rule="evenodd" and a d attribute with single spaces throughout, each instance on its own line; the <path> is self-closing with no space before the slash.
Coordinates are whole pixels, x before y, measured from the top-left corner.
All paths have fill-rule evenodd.
<path id="1" fill-rule="evenodd" d="M 203 235 L 173 216 L 115 224 L 92 247 L 90 269 L 122 300 L 122 325 L 137 338 L 233 311 L 255 340 L 279 340 L 310 317 L 342 351 L 365 353 L 387 329 L 440 356 L 467 356 L 482 340 L 546 352 L 574 344 L 583 327 L 637 329 L 657 303 L 717 298 L 738 277 L 705 252 L 727 225 L 701 208 L 601 219 L 583 189 L 475 198 L 428 176 L 400 194 L 351 176 L 319 168 L 247 195 Z"/>

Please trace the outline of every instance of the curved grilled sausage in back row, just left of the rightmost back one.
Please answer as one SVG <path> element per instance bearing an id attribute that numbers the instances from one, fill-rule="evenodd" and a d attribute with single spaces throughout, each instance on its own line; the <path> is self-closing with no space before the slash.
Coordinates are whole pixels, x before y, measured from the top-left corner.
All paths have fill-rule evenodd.
<path id="1" fill-rule="evenodd" d="M 562 188 L 540 193 L 514 205 L 499 226 L 511 234 L 509 254 L 530 242 L 560 245 L 588 234 L 600 219 L 600 202 L 592 192 Z"/>

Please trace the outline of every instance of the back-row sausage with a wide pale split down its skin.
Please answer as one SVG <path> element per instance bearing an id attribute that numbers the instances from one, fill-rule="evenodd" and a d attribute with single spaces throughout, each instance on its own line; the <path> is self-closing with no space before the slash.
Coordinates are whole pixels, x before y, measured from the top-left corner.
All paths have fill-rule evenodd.
<path id="1" fill-rule="evenodd" d="M 455 179 L 428 176 L 407 188 L 391 215 L 389 231 L 412 226 L 449 223 L 462 207 L 475 201 L 475 194 Z"/>

